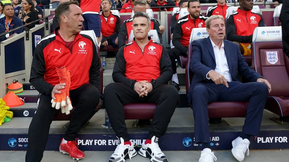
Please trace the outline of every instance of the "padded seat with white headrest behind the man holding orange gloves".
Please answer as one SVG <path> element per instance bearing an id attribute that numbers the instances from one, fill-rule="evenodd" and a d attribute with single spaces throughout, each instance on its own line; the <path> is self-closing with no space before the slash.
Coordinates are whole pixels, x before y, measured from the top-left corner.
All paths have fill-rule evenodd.
<path id="1" fill-rule="evenodd" d="M 89 35 L 92 40 L 94 41 L 95 44 L 97 44 L 97 40 L 96 40 L 96 36 L 95 36 L 95 33 L 93 30 L 82 30 L 80 32 L 81 34 L 86 34 L 86 35 Z M 99 47 L 97 46 L 97 54 L 98 54 L 98 58 L 100 60 L 100 54 L 99 54 Z M 102 71 L 102 66 L 100 66 L 100 87 L 99 87 L 99 93 L 102 95 L 102 92 L 103 92 L 103 71 Z M 70 110 L 70 114 L 66 115 L 65 113 L 62 114 L 61 113 L 61 110 L 59 110 L 53 117 L 53 121 L 58 121 L 58 120 L 70 120 L 71 118 L 71 115 L 72 115 L 72 112 L 75 108 L 75 105 L 72 105 L 73 106 L 73 109 Z M 96 113 L 96 112 L 95 112 Z M 94 114 L 95 114 L 94 113 Z M 92 114 L 91 117 L 94 115 Z"/>

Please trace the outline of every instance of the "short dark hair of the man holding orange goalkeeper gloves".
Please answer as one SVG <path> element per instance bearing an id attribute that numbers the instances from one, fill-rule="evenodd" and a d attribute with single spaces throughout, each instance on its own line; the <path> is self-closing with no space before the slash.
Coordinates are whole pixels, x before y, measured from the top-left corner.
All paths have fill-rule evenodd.
<path id="1" fill-rule="evenodd" d="M 58 24 L 61 22 L 61 16 L 65 15 L 68 16 L 71 13 L 71 10 L 69 8 L 70 4 L 76 4 L 79 6 L 79 3 L 77 1 L 68 1 L 63 2 L 55 9 L 55 18 L 57 19 Z"/>

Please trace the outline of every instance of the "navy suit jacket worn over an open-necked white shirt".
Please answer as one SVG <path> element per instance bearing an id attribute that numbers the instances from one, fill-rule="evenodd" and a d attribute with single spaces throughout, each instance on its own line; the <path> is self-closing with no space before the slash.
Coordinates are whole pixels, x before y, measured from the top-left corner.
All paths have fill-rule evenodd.
<path id="1" fill-rule="evenodd" d="M 249 81 L 257 81 L 262 76 L 248 66 L 240 52 L 239 46 L 231 41 L 224 41 L 224 51 L 227 58 L 232 81 L 239 81 L 237 73 L 245 76 Z M 209 37 L 192 42 L 192 56 L 190 58 L 190 70 L 194 73 L 188 94 L 188 101 L 191 102 L 192 90 L 196 83 L 209 81 L 206 75 L 209 71 L 215 70 L 216 59 L 213 46 Z M 211 79 L 210 79 L 211 80 Z"/>

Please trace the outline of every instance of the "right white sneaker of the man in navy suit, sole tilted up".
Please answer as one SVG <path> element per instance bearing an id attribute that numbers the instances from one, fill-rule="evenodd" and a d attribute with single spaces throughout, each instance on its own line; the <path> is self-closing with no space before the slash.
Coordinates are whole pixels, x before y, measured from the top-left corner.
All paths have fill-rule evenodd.
<path id="1" fill-rule="evenodd" d="M 249 145 L 250 141 L 248 139 L 242 139 L 241 137 L 237 137 L 232 141 L 232 154 L 238 161 L 243 161 L 245 158 L 245 153 L 247 151 L 247 156 L 249 156 Z"/>

